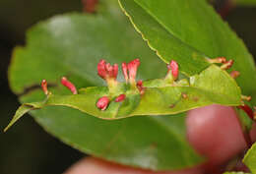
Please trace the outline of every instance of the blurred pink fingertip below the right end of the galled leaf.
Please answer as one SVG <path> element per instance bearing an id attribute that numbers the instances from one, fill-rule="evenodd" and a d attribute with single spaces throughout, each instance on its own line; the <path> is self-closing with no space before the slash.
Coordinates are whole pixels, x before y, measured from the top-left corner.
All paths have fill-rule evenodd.
<path id="1" fill-rule="evenodd" d="M 188 140 L 208 157 L 208 165 L 223 164 L 245 148 L 243 134 L 231 107 L 211 105 L 191 110 L 187 118 Z"/>

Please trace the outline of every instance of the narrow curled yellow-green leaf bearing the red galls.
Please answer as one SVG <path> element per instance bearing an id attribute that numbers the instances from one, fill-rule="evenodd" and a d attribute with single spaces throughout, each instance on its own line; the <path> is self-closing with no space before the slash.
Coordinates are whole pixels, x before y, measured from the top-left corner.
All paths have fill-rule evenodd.
<path id="1" fill-rule="evenodd" d="M 165 83 L 164 79 L 152 80 L 145 82 L 146 88 L 142 95 L 137 88 L 131 87 L 131 89 L 125 83 L 118 84 L 118 87 L 118 92 L 114 94 L 110 93 L 107 87 L 82 88 L 81 94 L 49 94 L 46 100 L 26 103 L 21 109 L 24 110 L 24 107 L 28 106 L 32 109 L 40 109 L 60 105 L 72 107 L 102 119 L 119 119 L 136 115 L 177 114 L 210 104 L 231 106 L 242 104 L 240 88 L 227 73 L 216 65 L 210 66 L 200 75 L 191 77 L 189 85 L 186 86 L 180 86 L 179 82 Z M 124 93 L 126 98 L 122 102 L 115 102 L 115 97 L 121 93 Z M 96 107 L 97 100 L 102 96 L 108 96 L 111 100 L 106 110 L 103 111 Z M 21 114 L 25 113 L 18 112 L 13 120 L 17 121 Z M 14 121 L 10 124 L 14 124 Z"/>

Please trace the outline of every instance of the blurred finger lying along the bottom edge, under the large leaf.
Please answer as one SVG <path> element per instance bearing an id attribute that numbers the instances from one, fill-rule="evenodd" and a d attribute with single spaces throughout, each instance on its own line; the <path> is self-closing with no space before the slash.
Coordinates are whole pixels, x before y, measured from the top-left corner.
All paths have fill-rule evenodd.
<path id="1" fill-rule="evenodd" d="M 183 170 L 179 172 L 153 172 L 88 157 L 80 160 L 65 174 L 201 174 L 201 172 L 199 169 Z"/>

